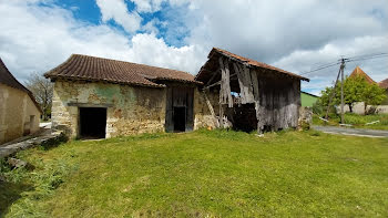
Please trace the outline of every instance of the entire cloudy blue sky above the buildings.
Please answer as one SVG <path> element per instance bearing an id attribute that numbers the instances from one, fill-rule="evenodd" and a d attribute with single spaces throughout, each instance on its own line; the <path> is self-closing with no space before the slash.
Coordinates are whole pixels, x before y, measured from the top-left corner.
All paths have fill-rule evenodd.
<path id="1" fill-rule="evenodd" d="M 385 0 L 0 0 L 0 56 L 21 81 L 82 53 L 196 74 L 213 46 L 303 73 L 388 51 Z M 375 81 L 388 59 L 349 63 Z M 308 74 L 318 94 L 338 66 Z"/>

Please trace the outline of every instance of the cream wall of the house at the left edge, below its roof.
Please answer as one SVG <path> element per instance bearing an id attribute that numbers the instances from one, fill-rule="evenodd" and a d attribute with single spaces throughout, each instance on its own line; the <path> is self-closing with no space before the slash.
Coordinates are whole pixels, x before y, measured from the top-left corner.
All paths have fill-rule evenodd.
<path id="1" fill-rule="evenodd" d="M 40 112 L 25 92 L 0 84 L 0 144 L 39 131 L 39 120 Z"/>

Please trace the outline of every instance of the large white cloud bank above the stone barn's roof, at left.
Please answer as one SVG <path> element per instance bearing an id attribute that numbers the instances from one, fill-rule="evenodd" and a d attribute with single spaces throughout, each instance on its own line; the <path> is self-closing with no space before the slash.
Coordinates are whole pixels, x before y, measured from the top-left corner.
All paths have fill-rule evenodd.
<path id="1" fill-rule="evenodd" d="M 129 39 L 109 25 L 80 22 L 71 11 L 38 2 L 0 1 L 0 58 L 20 80 L 43 73 L 72 53 L 89 54 L 195 73 L 205 56 L 194 46 L 169 46 L 154 34 Z"/>

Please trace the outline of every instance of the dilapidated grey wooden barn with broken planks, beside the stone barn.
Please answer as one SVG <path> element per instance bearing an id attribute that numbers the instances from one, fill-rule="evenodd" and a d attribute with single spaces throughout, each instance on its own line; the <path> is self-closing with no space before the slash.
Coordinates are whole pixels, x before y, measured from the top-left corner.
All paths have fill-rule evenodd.
<path id="1" fill-rule="evenodd" d="M 217 48 L 195 80 L 204 83 L 215 125 L 258 133 L 297 127 L 300 81 L 309 81 Z"/>

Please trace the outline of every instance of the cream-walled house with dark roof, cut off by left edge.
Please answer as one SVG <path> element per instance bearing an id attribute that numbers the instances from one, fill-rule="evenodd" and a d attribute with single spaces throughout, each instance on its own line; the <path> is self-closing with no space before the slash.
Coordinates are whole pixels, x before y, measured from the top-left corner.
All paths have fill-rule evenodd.
<path id="1" fill-rule="evenodd" d="M 39 131 L 41 114 L 32 93 L 0 59 L 0 144 Z"/>

